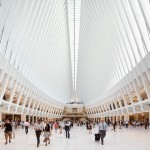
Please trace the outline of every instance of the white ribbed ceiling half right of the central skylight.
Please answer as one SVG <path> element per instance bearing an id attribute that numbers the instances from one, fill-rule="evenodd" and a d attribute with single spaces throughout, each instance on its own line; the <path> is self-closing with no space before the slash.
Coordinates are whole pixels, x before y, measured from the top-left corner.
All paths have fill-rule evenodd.
<path id="1" fill-rule="evenodd" d="M 103 100 L 150 51 L 149 0 L 82 0 L 77 93 Z"/>

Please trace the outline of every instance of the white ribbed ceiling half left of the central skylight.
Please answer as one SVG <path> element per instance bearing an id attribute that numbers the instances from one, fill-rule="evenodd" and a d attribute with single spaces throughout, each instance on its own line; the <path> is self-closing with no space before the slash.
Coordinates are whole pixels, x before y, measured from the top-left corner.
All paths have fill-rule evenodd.
<path id="1" fill-rule="evenodd" d="M 2 0 L 0 53 L 57 101 L 72 95 L 66 0 Z"/>

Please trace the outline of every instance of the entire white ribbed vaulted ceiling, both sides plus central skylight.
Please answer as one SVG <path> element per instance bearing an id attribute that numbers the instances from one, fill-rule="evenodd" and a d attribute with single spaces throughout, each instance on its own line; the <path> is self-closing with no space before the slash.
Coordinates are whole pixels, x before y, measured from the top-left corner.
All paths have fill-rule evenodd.
<path id="1" fill-rule="evenodd" d="M 150 51 L 149 10 L 149 0 L 1 0 L 0 54 L 57 101 L 76 91 L 100 101 Z"/>

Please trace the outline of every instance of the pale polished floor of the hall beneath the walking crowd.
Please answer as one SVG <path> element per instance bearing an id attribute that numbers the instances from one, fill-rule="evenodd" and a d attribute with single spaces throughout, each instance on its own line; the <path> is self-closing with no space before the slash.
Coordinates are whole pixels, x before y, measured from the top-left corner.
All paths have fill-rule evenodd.
<path id="1" fill-rule="evenodd" d="M 4 145 L 4 131 L 0 129 L 0 150 L 150 150 L 150 129 L 123 127 L 114 132 L 110 127 L 104 145 L 95 142 L 94 133 L 97 131 L 98 127 L 93 129 L 93 134 L 89 134 L 85 127 L 74 126 L 70 139 L 65 138 L 64 132 L 59 134 L 53 131 L 50 145 L 45 146 L 41 136 L 41 144 L 37 148 L 33 129 L 30 129 L 27 135 L 24 130 L 18 129 L 16 138 L 7 145 Z"/>

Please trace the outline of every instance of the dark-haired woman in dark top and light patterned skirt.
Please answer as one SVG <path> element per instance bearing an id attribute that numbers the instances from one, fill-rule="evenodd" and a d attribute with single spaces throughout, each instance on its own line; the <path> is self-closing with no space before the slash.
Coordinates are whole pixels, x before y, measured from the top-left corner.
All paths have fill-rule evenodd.
<path id="1" fill-rule="evenodd" d="M 50 144 L 50 125 L 48 123 L 46 123 L 45 129 L 44 129 L 44 142 L 45 142 L 45 146 L 47 146 L 47 141 L 48 144 Z"/>

